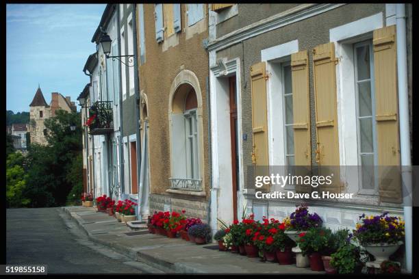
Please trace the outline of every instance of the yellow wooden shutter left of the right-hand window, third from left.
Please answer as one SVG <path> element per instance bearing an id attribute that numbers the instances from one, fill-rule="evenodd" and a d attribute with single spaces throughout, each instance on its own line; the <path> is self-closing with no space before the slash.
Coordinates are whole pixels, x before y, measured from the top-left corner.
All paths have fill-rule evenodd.
<path id="1" fill-rule="evenodd" d="M 314 92 L 316 103 L 316 162 L 320 166 L 339 166 L 338 116 L 336 101 L 335 45 L 320 44 L 313 50 Z M 330 175 L 322 172 L 319 175 Z M 331 185 L 320 191 L 340 192 L 340 173 L 333 169 Z"/>

